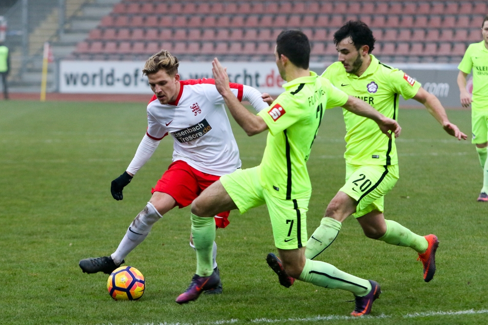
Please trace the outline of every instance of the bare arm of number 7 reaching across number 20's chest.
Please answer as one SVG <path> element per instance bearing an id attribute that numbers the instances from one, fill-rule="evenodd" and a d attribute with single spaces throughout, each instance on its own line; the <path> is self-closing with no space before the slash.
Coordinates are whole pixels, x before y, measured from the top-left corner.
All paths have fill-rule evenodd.
<path id="1" fill-rule="evenodd" d="M 354 96 L 349 96 L 347 102 L 342 107 L 344 107 L 351 113 L 366 117 L 376 122 L 380 127 L 381 132 L 385 133 L 388 138 L 391 138 L 390 131 L 395 134 L 395 138 L 398 138 L 400 136 L 402 128 L 400 127 L 398 122 L 393 119 L 387 118 L 376 109 L 374 109 L 371 105 L 366 104 L 366 102 Z"/>

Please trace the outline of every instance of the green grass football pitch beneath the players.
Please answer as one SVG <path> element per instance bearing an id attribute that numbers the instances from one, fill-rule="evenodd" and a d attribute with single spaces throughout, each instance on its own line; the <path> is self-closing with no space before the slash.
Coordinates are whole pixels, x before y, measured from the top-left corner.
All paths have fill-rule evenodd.
<path id="1" fill-rule="evenodd" d="M 278 284 L 265 263 L 276 252 L 265 206 L 242 216 L 233 211 L 217 232 L 224 294 L 174 302 L 195 271 L 189 209 L 176 208 L 126 258 L 146 278 L 142 299 L 113 301 L 107 276 L 83 274 L 78 261 L 116 249 L 170 163 L 171 139 L 117 202 L 110 182 L 144 135 L 144 103 L 1 102 L 0 114 L 0 324 L 488 323 L 488 205 L 476 202 L 482 170 L 474 145 L 447 136 L 426 110 L 400 110 L 401 178 L 386 196 L 385 214 L 418 234 L 438 235 L 434 279 L 424 283 L 413 250 L 367 239 L 353 218 L 319 257 L 382 285 L 372 317 L 363 319 L 348 318 L 348 292 Z M 448 115 L 470 134 L 469 111 Z M 259 164 L 265 133 L 249 138 L 231 122 L 243 167 Z M 344 183 L 344 135 L 341 110 L 327 111 L 308 162 L 309 235 Z"/>

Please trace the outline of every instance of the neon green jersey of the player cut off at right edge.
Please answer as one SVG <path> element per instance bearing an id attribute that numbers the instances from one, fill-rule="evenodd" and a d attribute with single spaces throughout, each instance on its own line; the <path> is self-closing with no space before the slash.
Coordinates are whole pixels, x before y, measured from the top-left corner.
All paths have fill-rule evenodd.
<path id="1" fill-rule="evenodd" d="M 468 46 L 458 69 L 470 73 L 473 69 L 473 109 L 488 110 L 488 50 L 485 41 Z"/>

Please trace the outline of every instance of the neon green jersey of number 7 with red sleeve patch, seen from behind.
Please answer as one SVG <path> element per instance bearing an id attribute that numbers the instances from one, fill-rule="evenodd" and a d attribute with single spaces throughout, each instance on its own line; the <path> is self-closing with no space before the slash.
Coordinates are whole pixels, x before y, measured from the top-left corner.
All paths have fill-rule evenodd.
<path id="1" fill-rule="evenodd" d="M 310 72 L 283 85 L 285 92 L 258 113 L 269 133 L 261 161 L 261 184 L 275 197 L 291 200 L 312 190 L 306 162 L 324 110 L 342 106 L 348 96 Z"/>

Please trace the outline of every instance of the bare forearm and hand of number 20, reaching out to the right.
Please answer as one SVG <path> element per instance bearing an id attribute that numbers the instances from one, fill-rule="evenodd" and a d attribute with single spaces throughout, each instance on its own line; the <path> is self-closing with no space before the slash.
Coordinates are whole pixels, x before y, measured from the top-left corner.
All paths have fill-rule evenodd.
<path id="1" fill-rule="evenodd" d="M 446 110 L 442 106 L 441 102 L 439 102 L 439 99 L 435 97 L 435 95 L 428 93 L 427 90 L 425 90 L 424 88 L 419 88 L 419 91 L 413 97 L 413 99 L 426 106 L 427 111 L 437 120 L 437 122 L 441 123 L 447 134 L 458 138 L 458 140 L 466 140 L 468 138 L 466 134 L 459 130 L 456 124 L 449 122 Z"/>

